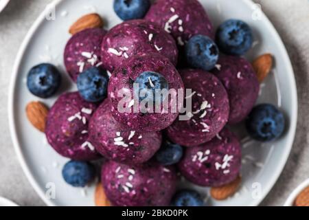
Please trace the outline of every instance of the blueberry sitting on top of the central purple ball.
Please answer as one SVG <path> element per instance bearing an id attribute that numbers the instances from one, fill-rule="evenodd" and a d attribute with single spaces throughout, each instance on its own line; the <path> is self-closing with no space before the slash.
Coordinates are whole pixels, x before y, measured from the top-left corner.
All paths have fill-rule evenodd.
<path id="1" fill-rule="evenodd" d="M 144 72 L 134 82 L 134 93 L 139 101 L 149 101 L 161 104 L 165 100 L 168 91 L 168 82 L 161 74 L 156 72 Z"/>

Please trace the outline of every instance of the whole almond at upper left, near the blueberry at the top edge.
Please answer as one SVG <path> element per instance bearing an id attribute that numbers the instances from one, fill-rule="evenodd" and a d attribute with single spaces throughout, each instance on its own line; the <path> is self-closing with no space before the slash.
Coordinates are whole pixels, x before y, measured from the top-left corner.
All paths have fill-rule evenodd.
<path id="1" fill-rule="evenodd" d="M 76 34 L 82 30 L 88 28 L 102 28 L 103 27 L 103 20 L 101 19 L 99 14 L 86 14 L 80 19 L 78 19 L 71 28 L 69 29 L 70 34 Z"/>

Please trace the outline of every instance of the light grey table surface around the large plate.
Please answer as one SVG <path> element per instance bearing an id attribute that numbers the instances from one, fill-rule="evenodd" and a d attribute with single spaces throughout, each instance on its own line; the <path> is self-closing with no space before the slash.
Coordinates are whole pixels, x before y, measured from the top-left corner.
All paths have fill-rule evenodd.
<path id="1" fill-rule="evenodd" d="M 12 65 L 27 30 L 52 0 L 11 0 L 0 14 L 0 196 L 21 206 L 43 206 L 16 158 L 8 129 L 8 85 Z M 234 0 L 235 1 L 235 0 Z M 236 0 L 239 1 L 239 0 Z M 282 36 L 292 60 L 299 97 L 297 133 L 288 163 L 262 206 L 282 206 L 309 177 L 309 3 L 308 0 L 255 0 Z"/>

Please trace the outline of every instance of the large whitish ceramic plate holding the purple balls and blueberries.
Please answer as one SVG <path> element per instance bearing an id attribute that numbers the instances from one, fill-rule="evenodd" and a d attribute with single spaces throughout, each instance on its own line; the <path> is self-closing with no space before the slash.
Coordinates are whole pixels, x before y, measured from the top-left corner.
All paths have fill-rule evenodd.
<path id="1" fill-rule="evenodd" d="M 293 69 L 288 54 L 273 25 L 264 14 L 257 17 L 256 5 L 249 0 L 200 0 L 207 9 L 214 25 L 218 26 L 229 18 L 242 19 L 253 28 L 255 43 L 247 54 L 252 60 L 256 56 L 270 52 L 275 57 L 275 68 L 262 84 L 258 102 L 275 104 L 282 109 L 288 120 L 286 132 L 276 142 L 261 144 L 249 140 L 243 129 L 238 135 L 243 144 L 243 184 L 240 191 L 226 201 L 208 199 L 214 206 L 257 206 L 275 184 L 290 153 L 297 122 L 297 93 Z M 93 206 L 93 186 L 79 189 L 65 184 L 61 177 L 61 167 L 67 159 L 60 157 L 48 146 L 45 135 L 36 131 L 27 122 L 25 106 L 27 102 L 38 100 L 32 96 L 25 85 L 29 69 L 43 61 L 58 65 L 65 78 L 62 91 L 75 90 L 69 83 L 62 63 L 62 53 L 69 39 L 68 29 L 73 21 L 83 14 L 96 11 L 111 28 L 121 22 L 112 8 L 112 0 L 65 0 L 56 1 L 56 20 L 47 21 L 46 11 L 36 20 L 27 34 L 16 58 L 12 84 L 10 87 L 9 113 L 10 131 L 16 153 L 32 186 L 48 204 L 57 206 Z M 258 19 L 258 20 L 257 20 Z M 56 98 L 44 100 L 52 106 Z M 239 131 L 240 130 L 240 131 Z M 50 184 L 52 183 L 52 184 Z M 183 183 L 185 184 L 185 183 Z M 185 184 L 188 186 L 188 184 Z M 47 199 L 45 192 L 50 186 L 56 187 L 56 198 Z M 195 186 L 194 186 L 195 187 Z M 203 195 L 208 188 L 196 187 Z"/>

